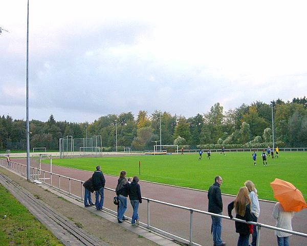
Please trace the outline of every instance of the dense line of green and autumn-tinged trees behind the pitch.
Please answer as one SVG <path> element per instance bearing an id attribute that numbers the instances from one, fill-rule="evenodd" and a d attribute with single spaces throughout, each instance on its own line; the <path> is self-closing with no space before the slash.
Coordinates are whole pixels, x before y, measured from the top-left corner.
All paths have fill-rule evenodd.
<path id="1" fill-rule="evenodd" d="M 273 101 L 275 141 L 279 147 L 307 146 L 307 99 L 294 98 L 284 102 Z M 152 149 L 152 141 L 160 140 L 163 145 L 180 145 L 185 149 L 204 148 L 262 148 L 272 146 L 271 105 L 256 101 L 251 105 L 230 109 L 223 113 L 220 103 L 214 104 L 204 114 L 186 118 L 168 112 L 139 111 L 135 117 L 131 112 L 101 116 L 92 123 L 56 121 L 50 115 L 47 122 L 30 121 L 30 148 L 46 147 L 58 150 L 59 138 L 73 136 L 102 136 L 105 151 L 130 147 L 134 150 Z M 158 142 L 159 145 L 159 142 Z M 276 146 L 276 145 L 275 145 Z M 0 117 L 0 149 L 26 149 L 26 121 Z"/>

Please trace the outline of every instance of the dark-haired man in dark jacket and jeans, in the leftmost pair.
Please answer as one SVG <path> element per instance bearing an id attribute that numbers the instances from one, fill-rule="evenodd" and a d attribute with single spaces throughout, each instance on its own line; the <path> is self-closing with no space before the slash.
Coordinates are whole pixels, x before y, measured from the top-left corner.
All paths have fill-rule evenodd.
<path id="1" fill-rule="evenodd" d="M 103 188 L 105 185 L 105 179 L 103 176 L 103 173 L 100 170 L 100 166 L 96 167 L 96 171 L 93 173 L 93 186 L 96 196 L 96 202 L 95 206 L 97 210 L 102 210 L 103 207 Z M 100 196 L 100 201 L 99 201 L 99 196 Z"/>

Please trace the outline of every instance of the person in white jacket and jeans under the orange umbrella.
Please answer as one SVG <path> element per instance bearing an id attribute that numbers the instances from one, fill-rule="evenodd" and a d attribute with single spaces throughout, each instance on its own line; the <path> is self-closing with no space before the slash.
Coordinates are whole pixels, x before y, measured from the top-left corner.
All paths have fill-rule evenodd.
<path id="1" fill-rule="evenodd" d="M 286 212 L 283 210 L 280 202 L 275 204 L 273 217 L 276 219 L 276 227 L 292 231 L 292 218 L 294 212 Z M 289 246 L 289 236 L 292 234 L 287 232 L 275 231 L 278 246 Z"/>

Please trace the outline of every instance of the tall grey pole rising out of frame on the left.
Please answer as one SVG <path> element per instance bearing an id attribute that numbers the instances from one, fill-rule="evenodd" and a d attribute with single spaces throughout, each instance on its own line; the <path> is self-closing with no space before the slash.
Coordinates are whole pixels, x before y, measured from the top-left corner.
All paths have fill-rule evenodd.
<path id="1" fill-rule="evenodd" d="M 29 0 L 27 15 L 27 180 L 30 180 L 30 126 L 29 126 Z"/>

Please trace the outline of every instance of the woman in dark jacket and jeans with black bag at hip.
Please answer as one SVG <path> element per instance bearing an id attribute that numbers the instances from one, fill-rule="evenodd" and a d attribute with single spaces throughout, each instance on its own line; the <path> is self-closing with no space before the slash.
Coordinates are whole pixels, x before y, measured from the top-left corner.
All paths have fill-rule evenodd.
<path id="1" fill-rule="evenodd" d="M 116 195 L 118 196 L 119 208 L 117 211 L 117 220 L 122 223 L 124 220 L 124 214 L 127 209 L 127 196 L 129 183 L 126 180 L 126 171 L 121 171 L 119 174 L 119 179 L 115 189 Z"/>

